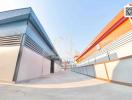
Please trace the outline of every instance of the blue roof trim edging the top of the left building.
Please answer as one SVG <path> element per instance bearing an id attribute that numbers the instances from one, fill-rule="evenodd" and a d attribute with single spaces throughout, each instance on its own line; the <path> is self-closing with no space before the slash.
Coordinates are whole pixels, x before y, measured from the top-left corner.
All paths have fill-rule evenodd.
<path id="1" fill-rule="evenodd" d="M 21 20 L 29 20 L 40 33 L 40 35 L 42 36 L 46 44 L 50 47 L 50 49 L 57 56 L 59 56 L 31 7 L 0 12 L 0 16 L 0 24 L 6 24 Z"/>

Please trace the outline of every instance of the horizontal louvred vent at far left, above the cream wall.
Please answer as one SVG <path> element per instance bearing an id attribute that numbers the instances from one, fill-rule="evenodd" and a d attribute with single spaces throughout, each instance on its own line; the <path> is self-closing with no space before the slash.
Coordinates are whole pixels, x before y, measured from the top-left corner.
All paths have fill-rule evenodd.
<path id="1" fill-rule="evenodd" d="M 0 37 L 0 46 L 4 45 L 20 45 L 21 35 Z"/>

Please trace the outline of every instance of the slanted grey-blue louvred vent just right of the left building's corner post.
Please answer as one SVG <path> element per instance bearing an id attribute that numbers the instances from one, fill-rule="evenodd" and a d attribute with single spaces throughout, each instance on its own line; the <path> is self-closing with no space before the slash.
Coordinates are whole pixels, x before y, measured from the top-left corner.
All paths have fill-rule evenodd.
<path id="1" fill-rule="evenodd" d="M 25 35 L 24 45 L 39 54 L 42 54 L 43 52 L 43 49 L 35 41 L 33 41 L 28 35 Z"/>

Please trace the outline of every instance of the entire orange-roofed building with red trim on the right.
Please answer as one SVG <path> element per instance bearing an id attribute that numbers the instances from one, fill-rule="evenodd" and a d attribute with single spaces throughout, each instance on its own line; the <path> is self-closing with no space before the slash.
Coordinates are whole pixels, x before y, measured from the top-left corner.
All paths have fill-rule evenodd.
<path id="1" fill-rule="evenodd" d="M 132 16 L 125 16 L 125 8 L 95 37 L 76 62 L 77 67 L 72 71 L 132 85 Z"/>

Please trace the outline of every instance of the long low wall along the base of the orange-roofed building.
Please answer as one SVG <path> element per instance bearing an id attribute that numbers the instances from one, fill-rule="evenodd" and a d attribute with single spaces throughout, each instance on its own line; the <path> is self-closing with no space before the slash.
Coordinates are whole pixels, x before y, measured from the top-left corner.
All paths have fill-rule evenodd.
<path id="1" fill-rule="evenodd" d="M 107 62 L 105 65 L 96 64 L 94 66 L 78 67 L 75 68 L 75 71 L 108 80 L 105 66 L 109 80 L 132 84 L 132 58 Z"/>

